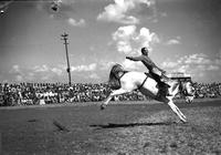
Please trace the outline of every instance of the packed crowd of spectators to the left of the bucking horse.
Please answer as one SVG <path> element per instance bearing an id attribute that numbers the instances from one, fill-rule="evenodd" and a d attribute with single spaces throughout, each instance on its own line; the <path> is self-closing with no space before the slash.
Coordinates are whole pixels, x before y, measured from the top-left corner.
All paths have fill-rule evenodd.
<path id="1" fill-rule="evenodd" d="M 94 102 L 106 97 L 107 84 L 0 83 L 0 105 Z"/>

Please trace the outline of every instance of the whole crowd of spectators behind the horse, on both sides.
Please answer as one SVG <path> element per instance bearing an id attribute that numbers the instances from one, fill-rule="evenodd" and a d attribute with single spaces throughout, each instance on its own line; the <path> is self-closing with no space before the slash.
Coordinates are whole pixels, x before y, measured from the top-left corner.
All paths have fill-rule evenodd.
<path id="1" fill-rule="evenodd" d="M 194 83 L 196 97 L 220 97 L 221 83 Z M 110 93 L 106 83 L 0 83 L 0 106 L 34 105 L 52 103 L 83 103 L 104 101 Z M 118 95 L 114 101 L 150 100 L 139 91 Z"/>

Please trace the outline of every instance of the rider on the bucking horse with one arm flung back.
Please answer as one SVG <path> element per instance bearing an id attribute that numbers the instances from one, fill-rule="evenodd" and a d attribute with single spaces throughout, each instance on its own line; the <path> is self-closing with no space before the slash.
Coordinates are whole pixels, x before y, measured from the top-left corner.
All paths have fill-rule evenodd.
<path id="1" fill-rule="evenodd" d="M 150 75 L 157 81 L 159 84 L 159 87 L 170 87 L 165 81 L 168 80 L 168 78 L 165 75 L 166 71 L 158 68 L 148 56 L 148 49 L 141 48 L 141 55 L 139 56 L 126 56 L 126 59 L 131 61 L 141 61 L 143 64 L 149 70 Z M 166 89 L 168 90 L 168 89 Z M 168 93 L 168 91 L 167 91 Z M 170 95 L 170 94 L 168 94 Z"/>

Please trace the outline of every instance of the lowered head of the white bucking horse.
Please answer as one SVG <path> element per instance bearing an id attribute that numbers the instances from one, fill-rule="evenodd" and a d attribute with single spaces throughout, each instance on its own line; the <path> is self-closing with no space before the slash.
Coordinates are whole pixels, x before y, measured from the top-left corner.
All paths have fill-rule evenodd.
<path id="1" fill-rule="evenodd" d="M 183 82 L 181 85 L 181 93 L 185 95 L 186 102 L 191 103 L 194 99 L 196 93 L 192 82 Z"/>

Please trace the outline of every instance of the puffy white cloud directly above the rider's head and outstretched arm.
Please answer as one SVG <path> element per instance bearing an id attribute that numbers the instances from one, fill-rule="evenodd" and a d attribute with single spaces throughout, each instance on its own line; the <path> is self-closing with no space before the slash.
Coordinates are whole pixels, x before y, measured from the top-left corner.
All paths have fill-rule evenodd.
<path id="1" fill-rule="evenodd" d="M 113 35 L 116 43 L 117 51 L 124 54 L 135 54 L 140 51 L 143 46 L 149 48 L 159 42 L 156 33 L 150 32 L 147 28 L 141 28 L 139 32 L 136 31 L 136 25 L 119 27 Z"/>

